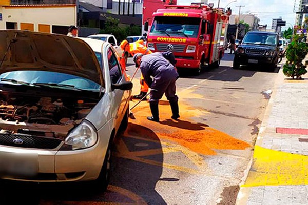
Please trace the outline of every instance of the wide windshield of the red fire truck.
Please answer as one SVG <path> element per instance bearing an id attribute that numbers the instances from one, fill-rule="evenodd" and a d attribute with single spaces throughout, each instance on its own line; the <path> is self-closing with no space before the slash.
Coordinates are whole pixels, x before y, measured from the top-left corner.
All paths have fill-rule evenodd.
<path id="1" fill-rule="evenodd" d="M 156 36 L 181 36 L 196 38 L 200 18 L 156 16 L 150 33 Z"/>

